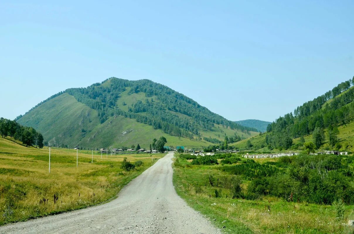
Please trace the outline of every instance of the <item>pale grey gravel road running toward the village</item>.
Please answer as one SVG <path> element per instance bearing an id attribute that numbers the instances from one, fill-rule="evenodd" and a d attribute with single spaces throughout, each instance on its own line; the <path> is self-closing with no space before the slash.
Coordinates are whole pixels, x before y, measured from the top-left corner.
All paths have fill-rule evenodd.
<path id="1" fill-rule="evenodd" d="M 98 206 L 0 227 L 0 233 L 218 233 L 187 206 L 172 185 L 173 153 L 125 186 L 118 198 Z"/>

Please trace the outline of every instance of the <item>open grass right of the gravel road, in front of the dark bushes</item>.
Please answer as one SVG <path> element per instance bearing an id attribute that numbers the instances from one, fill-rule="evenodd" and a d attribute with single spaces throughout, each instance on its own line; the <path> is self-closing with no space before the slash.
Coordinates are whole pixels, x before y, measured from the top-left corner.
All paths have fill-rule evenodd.
<path id="1" fill-rule="evenodd" d="M 263 159 L 258 160 L 261 162 Z M 179 162 L 182 165 L 189 164 L 181 158 Z M 347 233 L 343 225 L 336 222 L 336 211 L 330 205 L 286 202 L 274 197 L 264 197 L 261 200 L 230 198 L 228 189 L 211 187 L 209 184 L 209 174 L 220 179 L 229 176 L 217 170 L 217 167 L 175 167 L 173 183 L 177 193 L 188 205 L 210 217 L 216 226 L 225 227 L 222 229 L 224 233 Z M 215 198 L 215 189 L 218 189 L 221 197 Z M 347 219 L 354 218 L 353 209 L 353 205 L 346 206 Z"/>

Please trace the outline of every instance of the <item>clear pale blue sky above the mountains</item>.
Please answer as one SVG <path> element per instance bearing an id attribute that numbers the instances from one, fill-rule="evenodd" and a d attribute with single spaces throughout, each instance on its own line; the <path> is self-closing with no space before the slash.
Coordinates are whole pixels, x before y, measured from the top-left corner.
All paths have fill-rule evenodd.
<path id="1" fill-rule="evenodd" d="M 114 76 L 273 121 L 354 76 L 353 0 L 50 2 L 0 1 L 1 117 Z"/>

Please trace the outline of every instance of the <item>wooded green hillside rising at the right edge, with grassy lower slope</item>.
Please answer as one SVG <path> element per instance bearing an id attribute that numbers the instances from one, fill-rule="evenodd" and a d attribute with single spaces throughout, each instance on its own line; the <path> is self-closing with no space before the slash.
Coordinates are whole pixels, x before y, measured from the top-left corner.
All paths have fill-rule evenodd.
<path id="1" fill-rule="evenodd" d="M 311 141 L 316 149 L 352 151 L 354 145 L 354 77 L 298 106 L 267 126 L 267 132 L 236 142 L 253 150 L 301 150 Z"/>

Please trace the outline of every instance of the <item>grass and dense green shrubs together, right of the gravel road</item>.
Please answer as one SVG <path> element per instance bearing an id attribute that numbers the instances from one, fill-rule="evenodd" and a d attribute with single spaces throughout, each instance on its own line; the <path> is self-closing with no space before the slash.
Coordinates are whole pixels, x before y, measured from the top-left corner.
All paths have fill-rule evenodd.
<path id="1" fill-rule="evenodd" d="M 354 156 L 175 156 L 177 193 L 225 233 L 352 232 Z"/>

